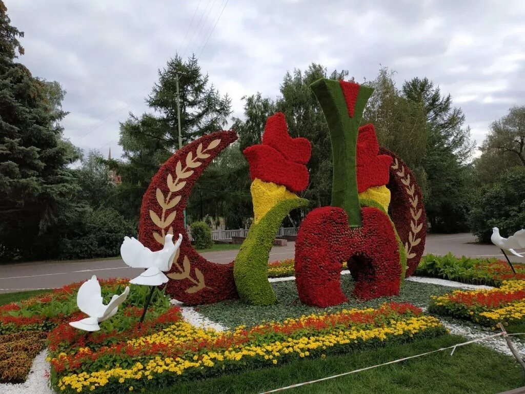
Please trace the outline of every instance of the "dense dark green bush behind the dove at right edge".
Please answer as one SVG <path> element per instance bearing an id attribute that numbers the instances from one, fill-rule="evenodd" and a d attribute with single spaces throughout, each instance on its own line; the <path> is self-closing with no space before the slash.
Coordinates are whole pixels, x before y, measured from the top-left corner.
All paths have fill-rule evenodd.
<path id="1" fill-rule="evenodd" d="M 470 211 L 472 233 L 480 242 L 490 242 L 492 227 L 509 237 L 525 223 L 525 167 L 510 168 L 499 183 L 481 187 Z"/>

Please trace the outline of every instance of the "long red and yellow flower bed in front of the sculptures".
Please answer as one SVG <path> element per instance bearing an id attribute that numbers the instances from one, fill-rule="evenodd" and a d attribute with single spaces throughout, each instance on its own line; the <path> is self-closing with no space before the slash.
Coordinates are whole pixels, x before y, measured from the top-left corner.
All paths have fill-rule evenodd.
<path id="1" fill-rule="evenodd" d="M 398 303 L 238 326 L 228 332 L 196 328 L 178 317 L 158 333 L 127 342 L 96 350 L 51 352 L 51 382 L 61 392 L 140 390 L 152 382 L 171 385 L 182 379 L 402 343 L 445 331 L 435 317 Z"/>

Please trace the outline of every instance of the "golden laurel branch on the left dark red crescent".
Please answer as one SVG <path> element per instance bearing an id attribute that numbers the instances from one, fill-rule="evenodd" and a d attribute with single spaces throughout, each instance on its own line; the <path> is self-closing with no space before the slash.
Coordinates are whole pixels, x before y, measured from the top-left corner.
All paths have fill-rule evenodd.
<path id="1" fill-rule="evenodd" d="M 150 209 L 150 218 L 153 221 L 153 223 L 155 223 L 155 226 L 161 229 L 160 234 L 156 231 L 153 231 L 153 238 L 155 238 L 155 241 L 159 242 L 161 245 L 164 244 L 164 238 L 166 236 L 166 233 L 173 235 L 173 226 L 171 226 L 171 224 L 175 220 L 177 211 L 174 210 L 173 212 L 171 212 L 171 214 L 167 215 L 167 217 L 166 212 L 176 207 L 177 204 L 181 201 L 182 196 L 174 194 L 177 193 L 177 191 L 181 191 L 184 188 L 184 186 L 186 186 L 186 181 L 182 179 L 186 179 L 192 176 L 194 173 L 194 170 L 192 168 L 197 168 L 198 166 L 202 165 L 202 162 L 199 162 L 198 159 L 208 158 L 210 155 L 209 153 L 205 152 L 212 150 L 219 144 L 220 139 L 213 140 L 208 144 L 208 147 L 204 150 L 202 143 L 199 144 L 195 152 L 195 157 L 193 156 L 193 152 L 188 152 L 185 159 L 186 165 L 184 168 L 182 167 L 182 163 L 180 161 L 177 162 L 175 166 L 175 180 L 173 180 L 173 176 L 171 174 L 168 174 L 166 178 L 167 187 L 170 189 L 170 193 L 168 193 L 167 196 L 164 196 L 162 190 L 160 188 L 157 188 L 156 198 L 157 202 L 162 208 L 162 215 L 161 217 L 159 217 L 159 215 L 155 214 L 155 212 Z M 172 195 L 174 195 L 173 198 Z M 167 227 L 169 227 L 169 229 L 166 232 Z M 196 293 L 199 290 L 204 289 L 204 287 L 207 287 L 204 283 L 204 275 L 198 268 L 195 268 L 196 279 L 193 279 L 191 277 L 191 263 L 190 259 L 188 259 L 187 256 L 184 256 L 182 267 L 180 266 L 180 264 L 177 263 L 176 259 L 174 259 L 174 263 L 180 272 L 169 273 L 167 274 L 168 278 L 174 280 L 189 279 L 190 281 L 195 283 L 195 286 L 186 289 L 186 293 Z"/>

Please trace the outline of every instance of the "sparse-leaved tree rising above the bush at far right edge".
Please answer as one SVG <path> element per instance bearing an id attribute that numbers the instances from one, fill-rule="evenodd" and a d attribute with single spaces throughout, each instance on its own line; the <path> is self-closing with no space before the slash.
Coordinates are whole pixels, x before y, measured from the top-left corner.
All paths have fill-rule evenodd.
<path id="1" fill-rule="evenodd" d="M 492 122 L 481 150 L 499 152 L 525 166 L 525 105 L 515 105 L 506 116 Z"/>

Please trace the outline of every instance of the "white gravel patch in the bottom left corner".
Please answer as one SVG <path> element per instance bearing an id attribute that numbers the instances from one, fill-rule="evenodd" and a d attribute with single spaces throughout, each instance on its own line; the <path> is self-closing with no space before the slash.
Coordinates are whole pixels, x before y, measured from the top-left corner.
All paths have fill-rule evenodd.
<path id="1" fill-rule="evenodd" d="M 24 383 L 0 383 L 0 394 L 55 394 L 49 387 L 51 365 L 46 361 L 46 357 L 47 349 L 35 357 Z"/>

